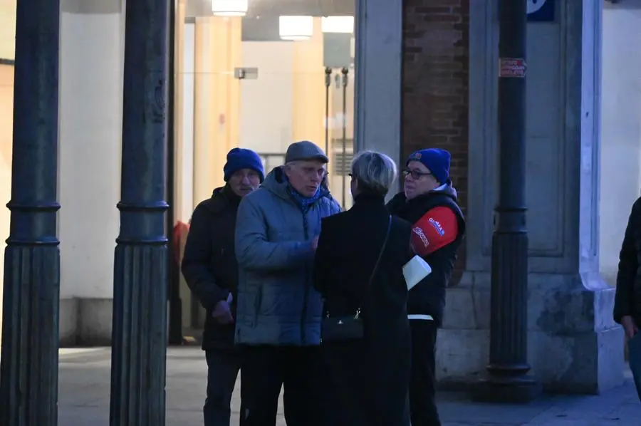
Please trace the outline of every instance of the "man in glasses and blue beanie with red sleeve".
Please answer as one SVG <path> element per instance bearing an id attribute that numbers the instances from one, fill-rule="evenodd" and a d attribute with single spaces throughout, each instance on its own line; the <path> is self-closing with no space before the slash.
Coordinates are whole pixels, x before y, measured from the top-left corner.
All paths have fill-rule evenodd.
<path id="1" fill-rule="evenodd" d="M 432 274 L 410 291 L 407 301 L 412 331 L 412 426 L 441 425 L 434 399 L 437 329 L 442 324 L 445 289 L 465 234 L 457 192 L 449 179 L 450 158 L 447 150 L 437 148 L 413 152 L 403 170 L 404 191 L 387 203 L 391 214 L 414 224 L 412 248 L 432 267 Z"/>

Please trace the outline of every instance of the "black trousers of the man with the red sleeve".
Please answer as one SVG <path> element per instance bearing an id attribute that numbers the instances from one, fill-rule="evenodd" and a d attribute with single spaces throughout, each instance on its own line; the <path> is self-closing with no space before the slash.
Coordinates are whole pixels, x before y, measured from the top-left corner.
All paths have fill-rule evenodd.
<path id="1" fill-rule="evenodd" d="M 412 426 L 441 426 L 436 407 L 436 338 L 434 321 L 410 320 L 412 331 L 412 375 L 410 411 Z"/>

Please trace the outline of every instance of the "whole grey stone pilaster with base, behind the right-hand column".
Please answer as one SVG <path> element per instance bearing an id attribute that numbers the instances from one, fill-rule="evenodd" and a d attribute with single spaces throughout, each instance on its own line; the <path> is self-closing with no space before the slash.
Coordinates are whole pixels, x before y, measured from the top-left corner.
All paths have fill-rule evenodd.
<path id="1" fill-rule="evenodd" d="M 623 373 L 614 290 L 598 272 L 603 5 L 557 6 L 552 24 L 528 24 L 528 360 L 548 389 L 598 393 Z M 492 1 L 470 8 L 467 271 L 447 294 L 437 349 L 444 383 L 476 382 L 489 353 L 498 21 Z"/>

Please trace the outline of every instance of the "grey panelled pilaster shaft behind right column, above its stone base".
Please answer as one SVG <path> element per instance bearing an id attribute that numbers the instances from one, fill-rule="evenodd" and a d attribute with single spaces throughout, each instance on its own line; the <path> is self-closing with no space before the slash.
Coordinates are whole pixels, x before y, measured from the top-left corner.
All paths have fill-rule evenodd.
<path id="1" fill-rule="evenodd" d="M 533 273 L 598 271 L 598 203 L 600 155 L 600 7 L 603 0 L 558 3 L 556 21 L 528 24 L 537 43 L 560 46 L 543 57 L 539 49 L 530 59 L 530 72 L 549 84 L 558 110 L 553 129 L 539 123 L 546 115 L 547 95 L 528 105 L 528 227 L 531 234 L 529 270 Z M 555 28 L 551 28 L 554 26 Z M 540 28 L 540 31 L 539 31 Z M 469 53 L 469 202 L 467 270 L 489 271 L 493 209 L 498 183 L 499 145 L 496 116 L 499 28 L 496 1 L 470 4 Z M 531 40 L 529 43 L 533 43 Z M 549 62 L 548 62 L 549 61 Z M 557 65 L 558 62 L 558 65 Z M 558 71 L 556 68 L 558 67 Z M 544 73 L 549 73 L 545 76 Z M 558 73 L 558 75 L 556 74 Z M 543 77 L 541 77 L 543 76 Z M 540 82 L 539 82 L 540 83 Z M 538 84 L 538 83 L 537 83 Z M 528 90 L 535 90 L 528 84 Z M 543 88 L 542 90 L 546 90 Z M 532 102 L 532 99 L 529 102 Z M 545 113 L 543 113 L 545 114 Z M 547 123 L 547 122 L 546 122 Z M 534 127 L 536 126 L 536 128 Z M 542 126 L 542 127 L 539 127 Z M 541 139 L 537 145 L 537 140 Z M 540 147 L 539 147 L 540 145 Z M 544 162 L 546 152 L 550 162 Z M 551 168 L 542 170 L 549 163 Z M 548 184 L 543 185 L 545 180 Z M 533 197 L 551 188 L 549 197 Z M 531 192 L 531 193 L 530 193 Z M 536 204 L 532 204 L 536 199 Z M 541 206 L 543 203 L 543 207 Z M 533 214 L 536 207 L 536 217 Z M 547 212 L 547 213 L 546 213 Z M 541 218 L 541 214 L 547 214 Z M 538 240 L 538 241 L 537 241 Z"/>

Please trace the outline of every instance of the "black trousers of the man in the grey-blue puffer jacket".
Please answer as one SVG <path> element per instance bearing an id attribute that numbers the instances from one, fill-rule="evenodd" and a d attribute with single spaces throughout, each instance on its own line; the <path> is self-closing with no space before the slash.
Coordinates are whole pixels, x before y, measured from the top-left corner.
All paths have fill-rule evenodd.
<path id="1" fill-rule="evenodd" d="M 325 426 L 320 347 L 242 350 L 240 426 L 275 426 L 281 387 L 287 426 Z"/>

